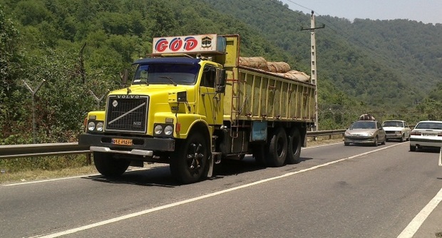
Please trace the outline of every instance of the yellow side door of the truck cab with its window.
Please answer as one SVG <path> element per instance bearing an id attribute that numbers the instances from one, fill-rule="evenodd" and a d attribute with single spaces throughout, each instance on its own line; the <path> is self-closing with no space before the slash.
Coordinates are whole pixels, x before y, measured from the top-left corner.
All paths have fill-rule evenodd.
<path id="1" fill-rule="evenodd" d="M 222 124 L 222 96 L 223 93 L 215 93 L 216 66 L 207 64 L 204 66 L 200 82 L 200 103 L 198 113 L 207 117 L 209 125 Z"/>

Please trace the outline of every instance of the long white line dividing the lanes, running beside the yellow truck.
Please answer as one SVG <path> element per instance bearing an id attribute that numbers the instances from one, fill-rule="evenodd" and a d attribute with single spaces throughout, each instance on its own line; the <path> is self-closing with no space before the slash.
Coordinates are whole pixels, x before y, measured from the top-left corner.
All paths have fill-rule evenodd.
<path id="1" fill-rule="evenodd" d="M 297 174 L 302 173 L 302 172 L 307 172 L 307 171 L 310 171 L 310 170 L 316 170 L 316 169 L 318 169 L 320 167 L 325 167 L 325 166 L 328 166 L 328 165 L 332 165 L 332 164 L 334 164 L 336 162 L 342 162 L 344 160 L 351 160 L 351 159 L 353 159 L 355 157 L 359 157 L 359 156 L 362 156 L 362 155 L 368 155 L 368 154 L 371 154 L 373 152 L 378 152 L 380 150 L 386 150 L 386 149 L 394 147 L 396 145 L 398 145 L 398 144 L 390 145 L 390 146 L 387 146 L 387 147 L 384 147 L 384 148 L 379 148 L 377 150 L 371 150 L 369 152 L 364 152 L 364 153 L 361 153 L 359 155 L 353 155 L 353 156 L 350 156 L 350 157 L 345 157 L 345 158 L 342 158 L 340 160 L 334 160 L 334 161 L 331 161 L 331 162 L 326 162 L 326 163 L 324 163 L 322 165 L 316 165 L 316 166 L 309 167 L 309 168 L 304 169 L 304 170 L 299 170 L 299 171 L 296 171 L 296 172 L 288 172 L 287 174 L 279 175 L 277 177 L 269 177 L 269 178 L 267 178 L 265 180 L 259 180 L 259 181 L 256 181 L 256 182 L 251 182 L 251 183 L 249 183 L 247 185 L 241 185 L 241 186 L 237 186 L 237 187 L 232 187 L 232 188 L 229 188 L 227 190 L 221 190 L 221 191 L 218 191 L 218 192 L 213 192 L 213 193 L 210 193 L 210 194 L 207 194 L 207 195 L 202 195 L 200 197 L 193 197 L 193 198 L 190 198 L 190 199 L 187 199 L 187 200 L 183 200 L 183 201 L 180 201 L 180 202 L 173 202 L 173 203 L 170 203 L 168 205 L 163 205 L 163 206 L 160 206 L 160 207 L 153 207 L 153 208 L 150 208 L 150 209 L 145 209 L 145 210 L 140 211 L 140 212 L 134 212 L 134 213 L 131 213 L 131 214 L 126 214 L 126 215 L 121 216 L 121 217 L 115 217 L 115 218 L 112 218 L 112 219 L 107 219 L 107 220 L 104 220 L 104 221 L 101 221 L 101 222 L 96 222 L 96 223 L 93 223 L 93 224 L 87 224 L 87 225 L 85 225 L 83 227 L 76 227 L 76 228 L 73 228 L 73 229 L 67 229 L 66 231 L 56 232 L 56 233 L 53 233 L 53 234 L 47 234 L 47 235 L 42 234 L 41 236 L 36 236 L 36 237 L 42 237 L 42 238 L 61 237 L 61 236 L 66 235 L 66 234 L 73 234 L 73 233 L 76 233 L 76 232 L 81 232 L 81 231 L 84 231 L 84 230 L 87 230 L 87 229 L 92 229 L 92 228 L 95 228 L 95 227 L 101 227 L 101 226 L 106 225 L 106 224 L 111 224 L 111 223 L 114 223 L 114 222 L 120 222 L 120 221 L 125 220 L 125 219 L 130 219 L 130 218 L 133 218 L 133 217 L 138 217 L 138 216 L 141 216 L 141 215 L 144 215 L 144 214 L 149 214 L 151 212 L 156 212 L 156 211 L 159 211 L 159 210 L 162 210 L 162 209 L 168 209 L 170 207 L 177 207 L 179 205 L 184 205 L 184 204 L 187 204 L 187 203 L 190 203 L 190 202 L 195 202 L 195 201 L 203 200 L 203 199 L 206 199 L 206 198 L 209 198 L 209 197 L 215 197 L 217 195 L 222 195 L 222 194 L 225 194 L 227 192 L 232 192 L 232 191 L 240 190 L 240 189 L 243 189 L 243 188 L 246 188 L 246 187 L 251 187 L 251 186 L 254 186 L 254 185 L 259 185 L 259 184 L 262 184 L 264 182 L 269 182 L 269 181 L 272 181 L 272 180 L 279 180 L 279 179 L 282 179 L 284 177 L 289 177 L 289 176 L 292 176 L 292 175 L 297 175 Z"/>

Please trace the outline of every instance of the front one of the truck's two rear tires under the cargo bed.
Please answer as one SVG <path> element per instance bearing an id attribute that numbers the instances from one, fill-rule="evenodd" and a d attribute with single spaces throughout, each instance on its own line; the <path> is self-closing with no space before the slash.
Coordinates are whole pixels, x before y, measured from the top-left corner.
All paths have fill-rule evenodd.
<path id="1" fill-rule="evenodd" d="M 272 133 L 267 150 L 266 162 L 269 167 L 281 167 L 287 157 L 287 133 L 279 127 Z"/>

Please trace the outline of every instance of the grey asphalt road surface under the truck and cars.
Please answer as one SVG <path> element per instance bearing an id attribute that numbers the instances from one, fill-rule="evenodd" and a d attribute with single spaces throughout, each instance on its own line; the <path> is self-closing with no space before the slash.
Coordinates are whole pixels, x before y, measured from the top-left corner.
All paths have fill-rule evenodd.
<path id="1" fill-rule="evenodd" d="M 223 162 L 178 185 L 167 166 L 0 186 L 0 237 L 436 237 L 438 151 L 408 143 L 302 150 L 302 162 Z"/>

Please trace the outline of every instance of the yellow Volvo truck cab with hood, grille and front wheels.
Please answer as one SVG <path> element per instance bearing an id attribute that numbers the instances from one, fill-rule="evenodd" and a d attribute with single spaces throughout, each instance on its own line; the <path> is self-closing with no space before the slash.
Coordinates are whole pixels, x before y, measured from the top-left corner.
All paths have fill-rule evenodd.
<path id="1" fill-rule="evenodd" d="M 187 42 L 201 45 L 203 39 L 199 39 Z M 164 42 L 176 44 L 176 39 L 156 41 L 160 43 L 154 52 L 162 51 L 164 56 L 158 53 L 133 63 L 133 79 L 128 82 L 127 72 L 123 78 L 128 86 L 109 93 L 106 110 L 88 113 L 86 133 L 79 143 L 90 145 L 103 175 L 118 176 L 129 165 L 143 166 L 143 162 L 167 162 L 178 167 L 175 174 L 180 182 L 195 182 L 208 172 L 210 138 L 214 128 L 222 125 L 225 70 L 201 55 L 205 52 L 195 52 L 195 57 L 168 55 Z M 190 135 L 195 139 L 189 143 Z M 183 140 L 188 145 L 182 145 Z M 186 151 L 180 150 L 183 147 Z M 172 156 L 189 165 L 175 166 Z"/>

